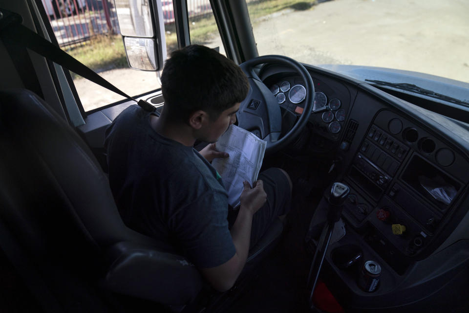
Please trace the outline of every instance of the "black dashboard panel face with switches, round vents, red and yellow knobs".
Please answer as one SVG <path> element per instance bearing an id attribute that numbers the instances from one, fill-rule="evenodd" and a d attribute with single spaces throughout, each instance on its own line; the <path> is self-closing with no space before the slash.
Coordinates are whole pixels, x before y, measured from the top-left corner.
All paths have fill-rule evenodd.
<path id="1" fill-rule="evenodd" d="M 441 222 L 468 183 L 460 170 L 468 168 L 467 159 L 436 136 L 382 110 L 370 123 L 344 177 L 367 200 L 361 207 L 347 205 L 344 214 L 349 222 L 355 228 L 373 227 L 375 242 L 386 240 L 409 257 L 424 250 L 443 227 Z M 441 151 L 444 158 L 438 158 Z M 405 231 L 394 231 L 400 227 L 396 225 Z"/>

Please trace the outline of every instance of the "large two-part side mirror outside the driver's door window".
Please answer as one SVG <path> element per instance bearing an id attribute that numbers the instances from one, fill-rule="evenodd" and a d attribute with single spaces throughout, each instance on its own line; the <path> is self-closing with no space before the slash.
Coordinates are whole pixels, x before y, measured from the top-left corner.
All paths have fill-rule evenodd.
<path id="1" fill-rule="evenodd" d="M 161 0 L 114 0 L 128 65 L 157 71 L 166 60 Z"/>

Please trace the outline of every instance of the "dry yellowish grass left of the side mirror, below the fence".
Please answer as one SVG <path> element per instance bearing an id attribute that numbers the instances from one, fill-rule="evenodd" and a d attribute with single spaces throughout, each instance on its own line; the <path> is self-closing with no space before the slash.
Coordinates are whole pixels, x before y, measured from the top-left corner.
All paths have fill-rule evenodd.
<path id="1" fill-rule="evenodd" d="M 121 35 L 97 35 L 81 45 L 63 49 L 95 72 L 128 67 Z M 76 77 L 73 72 L 72 77 Z"/>

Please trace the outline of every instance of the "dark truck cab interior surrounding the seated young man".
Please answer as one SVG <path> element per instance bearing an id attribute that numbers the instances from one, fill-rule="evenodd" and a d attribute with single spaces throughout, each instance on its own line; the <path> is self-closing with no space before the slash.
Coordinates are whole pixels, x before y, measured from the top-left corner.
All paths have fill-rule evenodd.
<path id="1" fill-rule="evenodd" d="M 187 1 L 172 3 L 184 47 Z M 129 229 L 108 186 L 104 136 L 135 101 L 85 111 L 67 68 L 14 43 L 10 13 L 58 46 L 42 2 L 0 0 L 1 311 L 468 312 L 469 84 L 259 56 L 246 3 L 210 4 L 251 85 L 237 124 L 268 142 L 263 167 L 293 180 L 286 223 L 224 293 Z M 165 53 L 154 51 L 159 69 Z M 372 79 L 355 75 L 365 72 Z M 384 84 L 396 75 L 412 84 Z M 430 78 L 446 97 L 412 92 Z M 131 95 L 164 105 L 160 89 Z M 347 187 L 340 204 L 336 182 Z"/>

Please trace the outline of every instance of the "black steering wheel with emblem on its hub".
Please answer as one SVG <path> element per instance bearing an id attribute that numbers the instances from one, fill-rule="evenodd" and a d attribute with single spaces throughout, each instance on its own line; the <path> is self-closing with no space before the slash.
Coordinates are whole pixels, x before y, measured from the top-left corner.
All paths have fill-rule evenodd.
<path id="1" fill-rule="evenodd" d="M 285 65 L 294 69 L 301 76 L 306 89 L 303 113 L 290 131 L 281 138 L 282 116 L 277 99 L 254 71 L 257 65 L 266 63 Z M 251 88 L 236 113 L 238 126 L 266 140 L 265 154 L 271 154 L 291 143 L 306 126 L 314 105 L 313 80 L 302 64 L 281 55 L 257 57 L 242 63 L 240 67 L 248 77 Z"/>

